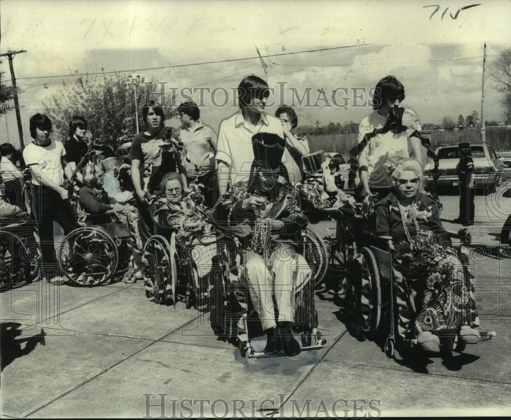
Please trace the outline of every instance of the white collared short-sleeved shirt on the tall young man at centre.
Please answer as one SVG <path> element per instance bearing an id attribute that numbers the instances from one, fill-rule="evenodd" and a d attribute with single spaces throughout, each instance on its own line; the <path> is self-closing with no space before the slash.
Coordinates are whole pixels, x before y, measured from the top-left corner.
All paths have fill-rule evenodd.
<path id="1" fill-rule="evenodd" d="M 240 109 L 220 123 L 215 158 L 230 168 L 230 185 L 248 180 L 254 160 L 252 136 L 259 132 L 273 133 L 284 138 L 281 121 L 267 113 L 262 113 L 258 123 L 253 125 L 245 121 Z"/>

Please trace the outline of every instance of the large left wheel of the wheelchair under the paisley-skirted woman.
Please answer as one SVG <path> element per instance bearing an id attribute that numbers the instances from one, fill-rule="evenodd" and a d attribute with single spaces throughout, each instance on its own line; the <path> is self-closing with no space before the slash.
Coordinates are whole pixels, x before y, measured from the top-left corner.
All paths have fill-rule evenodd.
<path id="1" fill-rule="evenodd" d="M 382 317 L 382 290 L 380 282 L 380 271 L 373 252 L 366 247 L 360 249 L 356 261 L 359 263 L 360 276 L 359 288 L 357 291 L 357 302 L 359 306 L 359 322 L 361 328 L 369 336 L 375 335 Z"/>

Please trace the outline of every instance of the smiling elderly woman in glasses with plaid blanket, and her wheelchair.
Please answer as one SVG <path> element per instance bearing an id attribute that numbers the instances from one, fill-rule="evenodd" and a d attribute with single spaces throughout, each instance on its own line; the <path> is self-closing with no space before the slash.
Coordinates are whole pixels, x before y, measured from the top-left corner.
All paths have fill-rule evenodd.
<path id="1" fill-rule="evenodd" d="M 146 295 L 157 303 L 172 301 L 175 305 L 184 286 L 190 308 L 210 296 L 222 250 L 233 252 L 235 245 L 229 244 L 213 224 L 211 210 L 202 205 L 204 197 L 197 191 L 184 194 L 178 173 L 167 173 L 160 191 L 150 206 L 154 235 L 144 246 L 148 259 Z"/>

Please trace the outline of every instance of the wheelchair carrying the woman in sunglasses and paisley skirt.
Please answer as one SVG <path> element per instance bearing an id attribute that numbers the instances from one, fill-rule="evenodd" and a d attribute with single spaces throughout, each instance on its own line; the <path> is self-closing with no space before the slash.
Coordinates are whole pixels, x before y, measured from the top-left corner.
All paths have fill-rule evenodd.
<path id="1" fill-rule="evenodd" d="M 469 271 L 469 252 L 471 238 L 466 229 L 460 229 L 457 235 L 451 238 L 460 239 L 458 255 L 462 263 L 464 275 L 471 276 Z M 376 238 L 373 244 L 364 244 L 354 253 L 347 266 L 346 278 L 349 282 L 349 297 L 353 299 L 353 309 L 357 322 L 357 328 L 368 339 L 375 339 L 379 333 L 385 335 L 384 352 L 392 358 L 396 348 L 410 348 L 417 345 L 416 339 L 403 339 L 396 334 L 398 316 L 396 295 L 394 293 L 394 262 L 392 257 L 392 237 L 382 236 Z M 378 243 L 386 243 L 387 246 L 379 246 Z M 478 329 L 481 340 L 491 339 L 496 336 L 495 331 Z M 462 352 L 464 343 L 454 343 L 454 351 Z"/>

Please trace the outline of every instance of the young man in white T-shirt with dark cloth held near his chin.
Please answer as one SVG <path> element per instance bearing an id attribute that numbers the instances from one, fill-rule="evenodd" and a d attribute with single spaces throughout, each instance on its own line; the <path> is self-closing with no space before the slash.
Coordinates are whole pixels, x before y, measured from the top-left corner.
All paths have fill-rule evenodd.
<path id="1" fill-rule="evenodd" d="M 394 76 L 386 76 L 376 85 L 373 109 L 360 122 L 358 142 L 362 142 L 365 134 L 375 128 L 382 128 L 387 122 L 392 108 L 398 107 L 405 99 L 405 88 Z M 359 174 L 365 194 L 377 193 L 379 199 L 390 193 L 390 180 L 384 166 L 387 157 L 413 157 L 422 164 L 422 144 L 418 137 L 409 137 L 413 131 L 421 130 L 421 123 L 415 111 L 405 108 L 403 124 L 407 130 L 399 134 L 391 131 L 378 134 L 371 138 L 369 144 L 359 155 Z M 410 153 L 411 150 L 411 153 Z"/>

